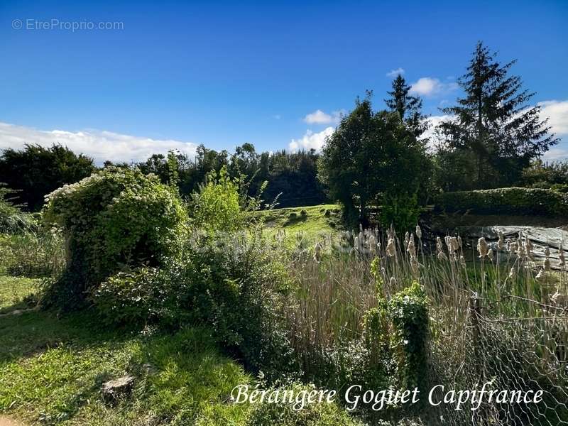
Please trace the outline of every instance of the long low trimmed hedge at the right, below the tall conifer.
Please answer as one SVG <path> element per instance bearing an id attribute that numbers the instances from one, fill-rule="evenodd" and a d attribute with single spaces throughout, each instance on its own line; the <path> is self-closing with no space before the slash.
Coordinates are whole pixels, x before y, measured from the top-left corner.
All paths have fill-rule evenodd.
<path id="1" fill-rule="evenodd" d="M 520 187 L 444 192 L 437 197 L 436 207 L 447 212 L 568 217 L 568 194 Z"/>

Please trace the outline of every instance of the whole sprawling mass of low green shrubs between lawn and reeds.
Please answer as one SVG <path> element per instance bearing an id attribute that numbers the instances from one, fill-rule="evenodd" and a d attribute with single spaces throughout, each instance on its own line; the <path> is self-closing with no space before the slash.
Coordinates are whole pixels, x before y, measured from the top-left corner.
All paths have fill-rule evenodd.
<path id="1" fill-rule="evenodd" d="M 251 371 L 293 371 L 281 315 L 290 283 L 257 236 L 187 236 L 161 268 L 119 272 L 101 283 L 94 304 L 107 324 L 208 324 L 226 351 Z"/>

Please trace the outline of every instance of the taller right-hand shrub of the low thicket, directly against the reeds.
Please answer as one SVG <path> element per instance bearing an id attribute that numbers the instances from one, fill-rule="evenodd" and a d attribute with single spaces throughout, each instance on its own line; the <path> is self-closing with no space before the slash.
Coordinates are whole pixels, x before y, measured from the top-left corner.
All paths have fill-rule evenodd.
<path id="1" fill-rule="evenodd" d="M 177 278 L 175 305 L 267 379 L 296 370 L 282 316 L 290 282 L 268 243 L 253 236 L 197 241 Z"/>

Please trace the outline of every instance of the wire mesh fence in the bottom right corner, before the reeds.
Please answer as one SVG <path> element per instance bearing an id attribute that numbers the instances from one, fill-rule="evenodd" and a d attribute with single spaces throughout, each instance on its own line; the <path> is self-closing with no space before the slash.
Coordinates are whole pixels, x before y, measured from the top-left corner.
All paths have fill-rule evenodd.
<path id="1" fill-rule="evenodd" d="M 568 425 L 567 307 L 518 302 L 532 315 L 506 317 L 510 299 L 472 297 L 461 336 L 433 346 L 432 386 L 455 393 L 432 406 L 431 424 Z"/>

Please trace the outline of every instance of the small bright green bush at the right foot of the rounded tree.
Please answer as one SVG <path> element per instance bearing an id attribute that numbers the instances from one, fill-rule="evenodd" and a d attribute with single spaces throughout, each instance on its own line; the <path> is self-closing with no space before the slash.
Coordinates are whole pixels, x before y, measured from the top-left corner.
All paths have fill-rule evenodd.
<path id="1" fill-rule="evenodd" d="M 396 231 L 404 231 L 414 228 L 418 223 L 420 207 L 418 207 L 417 195 L 405 195 L 403 192 L 387 193 L 383 196 L 381 204 L 381 224 L 388 228 L 393 226 Z"/>

